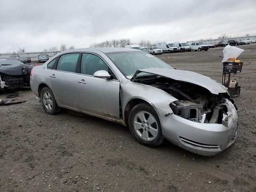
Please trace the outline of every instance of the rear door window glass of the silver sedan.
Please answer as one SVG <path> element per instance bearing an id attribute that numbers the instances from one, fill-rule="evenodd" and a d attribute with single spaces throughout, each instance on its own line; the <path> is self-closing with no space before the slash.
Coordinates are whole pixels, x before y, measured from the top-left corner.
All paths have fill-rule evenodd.
<path id="1" fill-rule="evenodd" d="M 58 60 L 57 70 L 66 72 L 76 72 L 76 63 L 79 53 L 69 53 L 60 56 Z"/>

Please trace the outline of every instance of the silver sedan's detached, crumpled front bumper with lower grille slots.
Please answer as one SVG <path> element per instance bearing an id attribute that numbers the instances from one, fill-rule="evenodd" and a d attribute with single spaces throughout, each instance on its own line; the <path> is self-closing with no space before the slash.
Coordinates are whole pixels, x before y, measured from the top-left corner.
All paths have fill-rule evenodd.
<path id="1" fill-rule="evenodd" d="M 222 124 L 198 123 L 186 120 L 166 111 L 155 109 L 160 118 L 164 137 L 188 150 L 203 156 L 214 156 L 234 143 L 238 127 L 236 108 L 226 100 L 228 115 Z M 223 118 L 223 119 L 224 119 Z"/>

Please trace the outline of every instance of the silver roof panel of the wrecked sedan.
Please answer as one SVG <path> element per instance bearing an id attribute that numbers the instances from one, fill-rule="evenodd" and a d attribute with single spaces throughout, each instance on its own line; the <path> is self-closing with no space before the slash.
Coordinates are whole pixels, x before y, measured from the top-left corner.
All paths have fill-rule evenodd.
<path id="1" fill-rule="evenodd" d="M 67 50 L 65 52 L 95 52 L 95 51 L 100 51 L 103 53 L 110 53 L 110 52 L 124 52 L 124 51 L 141 51 L 138 49 L 130 49 L 130 48 L 81 48 L 81 49 L 72 49 L 72 50 Z"/>

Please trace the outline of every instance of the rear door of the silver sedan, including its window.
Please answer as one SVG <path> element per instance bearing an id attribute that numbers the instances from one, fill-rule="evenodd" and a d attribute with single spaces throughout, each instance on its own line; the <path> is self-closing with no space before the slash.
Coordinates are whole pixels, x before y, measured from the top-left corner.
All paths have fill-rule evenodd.
<path id="1" fill-rule="evenodd" d="M 49 80 L 55 99 L 62 105 L 77 108 L 76 65 L 79 53 L 61 55 L 50 71 Z"/>

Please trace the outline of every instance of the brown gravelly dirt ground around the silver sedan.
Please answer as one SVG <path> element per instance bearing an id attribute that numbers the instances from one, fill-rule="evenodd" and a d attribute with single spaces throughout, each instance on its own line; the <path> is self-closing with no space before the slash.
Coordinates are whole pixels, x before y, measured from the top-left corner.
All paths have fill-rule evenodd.
<path id="1" fill-rule="evenodd" d="M 30 89 L 20 89 L 27 102 L 0 106 L 0 191 L 256 191 L 256 43 L 239 47 L 239 128 L 226 151 L 204 157 L 170 142 L 148 148 L 119 124 L 69 110 L 48 115 Z M 221 81 L 222 49 L 158 57 Z"/>

